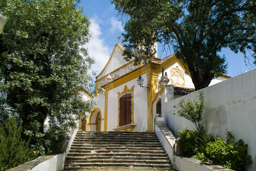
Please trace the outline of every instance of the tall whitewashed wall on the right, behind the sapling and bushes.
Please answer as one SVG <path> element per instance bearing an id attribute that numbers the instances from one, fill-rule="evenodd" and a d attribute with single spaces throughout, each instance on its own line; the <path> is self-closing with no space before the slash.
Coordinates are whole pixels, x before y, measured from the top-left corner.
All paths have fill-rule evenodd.
<path id="1" fill-rule="evenodd" d="M 255 85 L 256 69 L 204 88 L 205 109 L 202 120 L 204 127 L 207 132 L 216 133 L 223 140 L 226 139 L 226 129 L 232 132 L 235 141 L 243 139 L 244 143 L 248 144 L 248 154 L 252 156 L 252 165 L 247 168 L 249 171 L 256 170 Z M 190 93 L 189 96 L 194 98 L 198 94 L 199 92 L 196 91 Z M 164 99 L 164 93 L 161 98 Z M 162 100 L 162 117 L 176 137 L 178 130 L 186 127 L 196 129 L 192 122 L 172 114 L 175 112 L 172 106 L 179 101 L 180 98 L 166 103 L 163 103 Z"/>

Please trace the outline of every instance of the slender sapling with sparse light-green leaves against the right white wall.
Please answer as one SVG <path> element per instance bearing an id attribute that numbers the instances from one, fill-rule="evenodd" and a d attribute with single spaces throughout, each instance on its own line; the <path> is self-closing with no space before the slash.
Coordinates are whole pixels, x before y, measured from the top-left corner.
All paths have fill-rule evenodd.
<path id="1" fill-rule="evenodd" d="M 173 108 L 177 109 L 178 116 L 184 117 L 187 120 L 193 122 L 196 125 L 196 129 L 198 133 L 201 133 L 202 124 L 200 121 L 202 120 L 202 114 L 204 112 L 204 90 L 199 90 L 199 95 L 196 95 L 196 98 L 191 100 L 190 97 L 181 97 L 180 102 L 177 105 L 173 105 Z M 197 101 L 199 99 L 199 101 Z M 200 134 L 199 134 L 200 135 Z"/>

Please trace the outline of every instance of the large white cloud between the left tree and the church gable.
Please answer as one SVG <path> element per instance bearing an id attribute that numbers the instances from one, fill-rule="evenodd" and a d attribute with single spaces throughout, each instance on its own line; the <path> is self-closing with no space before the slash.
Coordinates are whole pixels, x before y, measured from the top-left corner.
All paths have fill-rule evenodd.
<path id="1" fill-rule="evenodd" d="M 97 75 L 107 64 L 111 53 L 111 49 L 107 46 L 107 43 L 100 37 L 102 32 L 100 31 L 99 23 L 101 23 L 101 20 L 98 17 L 91 19 L 90 30 L 92 32 L 92 39 L 84 45 L 84 48 L 88 49 L 89 55 L 96 59 L 96 63 L 92 66 L 92 71 L 96 71 Z"/>

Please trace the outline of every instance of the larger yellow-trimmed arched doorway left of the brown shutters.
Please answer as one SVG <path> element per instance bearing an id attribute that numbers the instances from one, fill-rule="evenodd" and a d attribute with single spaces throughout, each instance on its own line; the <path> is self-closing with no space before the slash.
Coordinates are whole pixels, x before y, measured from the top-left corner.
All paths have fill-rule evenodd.
<path id="1" fill-rule="evenodd" d="M 90 114 L 88 131 L 101 131 L 101 111 L 98 107 L 94 108 Z"/>

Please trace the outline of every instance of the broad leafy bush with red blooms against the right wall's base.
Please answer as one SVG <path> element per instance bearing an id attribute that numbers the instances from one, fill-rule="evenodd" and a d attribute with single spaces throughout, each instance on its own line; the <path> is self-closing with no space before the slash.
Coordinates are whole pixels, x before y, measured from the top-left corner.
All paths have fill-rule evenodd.
<path id="1" fill-rule="evenodd" d="M 231 132 L 227 132 L 227 141 L 222 141 L 220 137 L 216 137 L 215 142 L 206 144 L 206 153 L 199 153 L 198 158 L 201 163 L 208 159 L 217 164 L 233 170 L 245 170 L 245 165 L 252 164 L 252 158 L 247 155 L 247 144 L 240 139 L 235 144 L 234 136 Z"/>

